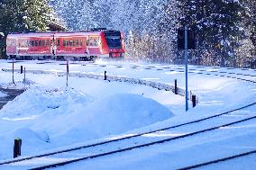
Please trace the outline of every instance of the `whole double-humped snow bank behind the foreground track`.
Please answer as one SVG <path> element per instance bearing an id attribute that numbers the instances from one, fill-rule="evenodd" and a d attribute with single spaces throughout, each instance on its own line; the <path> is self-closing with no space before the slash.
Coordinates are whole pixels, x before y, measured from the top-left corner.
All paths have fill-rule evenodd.
<path id="1" fill-rule="evenodd" d="M 70 88 L 33 87 L 0 111 L 0 150 L 6 145 L 11 150 L 14 139 L 21 138 L 23 154 L 35 154 L 141 128 L 172 115 L 167 107 L 139 94 L 114 94 L 94 100 Z M 10 154 L 0 155 L 0 159 L 12 157 Z"/>

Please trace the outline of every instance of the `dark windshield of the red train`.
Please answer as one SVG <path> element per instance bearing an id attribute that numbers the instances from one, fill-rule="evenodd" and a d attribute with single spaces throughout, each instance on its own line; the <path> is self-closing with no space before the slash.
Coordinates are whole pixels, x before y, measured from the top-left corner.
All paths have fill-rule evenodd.
<path id="1" fill-rule="evenodd" d="M 109 49 L 121 49 L 121 33 L 105 33 L 105 40 Z"/>

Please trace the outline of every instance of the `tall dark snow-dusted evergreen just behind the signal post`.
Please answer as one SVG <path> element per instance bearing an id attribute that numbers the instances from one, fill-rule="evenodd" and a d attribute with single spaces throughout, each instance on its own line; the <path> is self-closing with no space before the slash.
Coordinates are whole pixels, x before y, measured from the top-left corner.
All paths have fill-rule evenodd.
<path id="1" fill-rule="evenodd" d="M 197 56 L 204 63 L 211 56 L 218 66 L 227 66 L 244 32 L 241 28 L 242 5 L 235 0 L 179 0 L 183 9 L 180 25 L 197 32 Z M 202 64 L 203 64 L 202 63 Z"/>

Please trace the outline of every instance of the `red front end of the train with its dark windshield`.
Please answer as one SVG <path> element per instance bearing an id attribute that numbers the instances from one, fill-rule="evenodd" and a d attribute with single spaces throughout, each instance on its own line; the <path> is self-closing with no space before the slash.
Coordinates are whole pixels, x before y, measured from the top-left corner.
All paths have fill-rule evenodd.
<path id="1" fill-rule="evenodd" d="M 106 30 L 102 32 L 102 53 L 109 58 L 123 58 L 124 40 L 121 31 Z"/>

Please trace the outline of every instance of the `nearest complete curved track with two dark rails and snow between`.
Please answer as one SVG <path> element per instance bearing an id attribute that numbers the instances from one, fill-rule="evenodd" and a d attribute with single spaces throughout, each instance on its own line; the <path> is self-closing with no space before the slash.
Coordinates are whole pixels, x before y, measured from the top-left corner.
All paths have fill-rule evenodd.
<path id="1" fill-rule="evenodd" d="M 190 121 L 176 126 L 170 126 L 160 130 L 108 139 L 92 145 L 70 148 L 58 152 L 52 152 L 34 157 L 23 157 L 0 163 L 3 168 L 9 166 L 19 166 L 19 169 L 45 169 L 56 166 L 64 166 L 88 158 L 103 157 L 114 153 L 124 152 L 135 148 L 143 148 L 175 139 L 183 139 L 200 133 L 206 133 L 228 127 L 243 121 L 256 119 L 256 103 L 251 103 L 244 107 L 229 112 L 215 114 L 204 119 Z M 149 138 L 158 136 L 157 138 Z M 126 146 L 123 148 L 123 146 Z M 75 158 L 74 158 L 75 157 Z M 65 160 L 65 161 L 63 161 Z M 36 164 L 36 163 L 43 163 Z"/>

